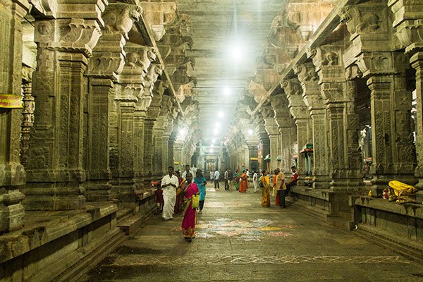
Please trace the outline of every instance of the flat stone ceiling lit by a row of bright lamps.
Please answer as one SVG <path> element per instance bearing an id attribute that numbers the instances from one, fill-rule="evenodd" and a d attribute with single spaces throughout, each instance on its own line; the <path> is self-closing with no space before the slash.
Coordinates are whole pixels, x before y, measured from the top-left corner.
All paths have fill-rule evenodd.
<path id="1" fill-rule="evenodd" d="M 180 0 L 178 11 L 192 19 L 194 45 L 192 75 L 197 78 L 194 99 L 200 102 L 202 141 L 219 142 L 233 117 L 236 102 L 254 75 L 255 61 L 271 29 L 273 18 L 288 0 Z M 240 58 L 233 54 L 238 45 Z M 230 94 L 225 94 L 228 87 Z M 223 118 L 219 118 L 223 111 Z M 214 135 L 215 123 L 221 124 Z"/>

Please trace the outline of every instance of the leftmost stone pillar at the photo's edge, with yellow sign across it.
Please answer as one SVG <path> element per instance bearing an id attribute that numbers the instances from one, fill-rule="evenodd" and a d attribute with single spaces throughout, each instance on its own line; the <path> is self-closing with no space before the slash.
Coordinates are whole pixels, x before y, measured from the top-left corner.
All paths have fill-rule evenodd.
<path id="1" fill-rule="evenodd" d="M 0 94 L 20 96 L 22 68 L 22 20 L 27 1 L 0 3 Z M 0 108 L 0 233 L 23 226 L 25 170 L 19 159 L 20 109 Z"/>

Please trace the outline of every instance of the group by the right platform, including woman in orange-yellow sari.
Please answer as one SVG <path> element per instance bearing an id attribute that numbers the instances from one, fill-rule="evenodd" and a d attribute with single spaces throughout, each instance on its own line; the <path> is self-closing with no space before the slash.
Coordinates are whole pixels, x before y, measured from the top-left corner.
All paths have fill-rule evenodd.
<path id="1" fill-rule="evenodd" d="M 274 170 L 274 176 L 272 178 L 272 196 L 275 198 L 276 206 L 286 208 L 285 197 L 288 195 L 290 188 L 298 183 L 298 173 L 295 166 L 291 167 L 292 175 L 288 183 L 285 183 L 285 175 L 283 172 L 276 168 Z M 260 184 L 262 187 L 262 206 L 270 206 L 270 178 L 267 171 L 262 171 L 262 177 L 260 178 Z"/>

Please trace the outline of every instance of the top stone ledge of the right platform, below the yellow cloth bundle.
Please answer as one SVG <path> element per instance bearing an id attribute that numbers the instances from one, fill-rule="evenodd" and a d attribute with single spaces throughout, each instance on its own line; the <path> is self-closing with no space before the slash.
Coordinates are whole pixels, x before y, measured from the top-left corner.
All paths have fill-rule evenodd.
<path id="1" fill-rule="evenodd" d="M 384 212 L 402 214 L 417 219 L 423 219 L 423 204 L 388 202 L 388 200 L 377 199 L 367 196 L 358 197 L 354 204 L 358 207 L 367 207 L 370 209 L 379 209 Z"/>

